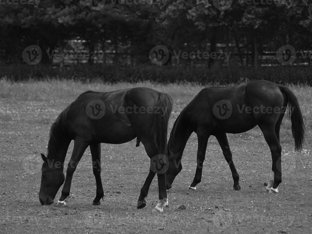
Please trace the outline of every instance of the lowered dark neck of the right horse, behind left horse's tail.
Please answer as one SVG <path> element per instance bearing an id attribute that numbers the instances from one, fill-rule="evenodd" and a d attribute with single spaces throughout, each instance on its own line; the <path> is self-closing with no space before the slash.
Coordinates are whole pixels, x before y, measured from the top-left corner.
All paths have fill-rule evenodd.
<path id="1" fill-rule="evenodd" d="M 178 116 L 177 120 L 173 124 L 173 128 L 168 140 L 168 156 L 180 159 L 188 141 L 188 138 L 192 134 L 190 122 L 183 110 Z"/>

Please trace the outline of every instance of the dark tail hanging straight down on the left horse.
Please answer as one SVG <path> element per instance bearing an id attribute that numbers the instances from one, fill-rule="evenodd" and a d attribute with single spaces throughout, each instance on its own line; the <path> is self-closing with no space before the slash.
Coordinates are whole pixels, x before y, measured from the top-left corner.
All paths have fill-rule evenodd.
<path id="1" fill-rule="evenodd" d="M 159 154 L 167 154 L 168 121 L 172 112 L 173 100 L 165 93 L 159 94 L 159 111 L 156 132 L 156 144 Z"/>

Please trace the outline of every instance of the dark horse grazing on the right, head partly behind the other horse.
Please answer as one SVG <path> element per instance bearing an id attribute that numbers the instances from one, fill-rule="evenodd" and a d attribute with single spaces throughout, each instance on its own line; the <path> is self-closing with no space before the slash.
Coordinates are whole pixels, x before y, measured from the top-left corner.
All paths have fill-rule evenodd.
<path id="1" fill-rule="evenodd" d="M 288 106 L 295 149 L 301 150 L 305 126 L 298 100 L 290 89 L 265 80 L 252 81 L 230 87 L 210 87 L 201 90 L 182 110 L 168 140 L 169 167 L 166 172 L 167 189 L 171 188 L 181 171 L 181 158 L 189 136 L 198 138 L 197 168 L 189 189 L 196 189 L 202 178 L 210 135 L 217 138 L 234 180 L 233 188 L 240 190 L 239 175 L 232 160 L 226 133 L 246 132 L 258 125 L 269 145 L 272 156 L 272 173 L 266 190 L 278 192 L 282 181 L 280 125 Z"/>

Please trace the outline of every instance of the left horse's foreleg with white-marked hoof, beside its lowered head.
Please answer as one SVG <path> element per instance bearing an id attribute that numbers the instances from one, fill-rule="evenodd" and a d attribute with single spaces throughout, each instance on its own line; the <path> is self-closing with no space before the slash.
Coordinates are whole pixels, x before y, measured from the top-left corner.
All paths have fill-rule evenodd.
<path id="1" fill-rule="evenodd" d="M 66 202 L 64 200 L 66 199 L 66 197 L 69 196 L 73 174 L 87 147 L 88 147 L 87 143 L 85 143 L 82 140 L 75 139 L 73 153 L 71 155 L 71 159 L 69 160 L 67 170 L 66 170 L 66 178 L 65 178 L 63 189 L 62 189 L 62 195 L 61 195 L 60 200 L 57 202 L 58 205 L 59 204 L 66 205 Z"/>

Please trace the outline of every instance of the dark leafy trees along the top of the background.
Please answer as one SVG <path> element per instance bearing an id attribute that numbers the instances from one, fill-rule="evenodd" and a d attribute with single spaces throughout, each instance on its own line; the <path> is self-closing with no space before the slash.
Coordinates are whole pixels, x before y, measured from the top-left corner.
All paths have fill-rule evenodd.
<path id="1" fill-rule="evenodd" d="M 56 50 L 87 50 L 103 51 L 104 66 L 120 65 L 124 57 L 130 64 L 152 64 L 149 52 L 157 45 L 165 45 L 170 56 L 218 51 L 222 45 L 241 63 L 247 58 L 257 67 L 259 56 L 283 45 L 310 51 L 311 21 L 308 0 L 5 0 L 0 63 L 23 63 L 29 45 L 47 51 L 42 64 L 51 64 Z M 204 63 L 210 67 L 214 61 Z"/>

